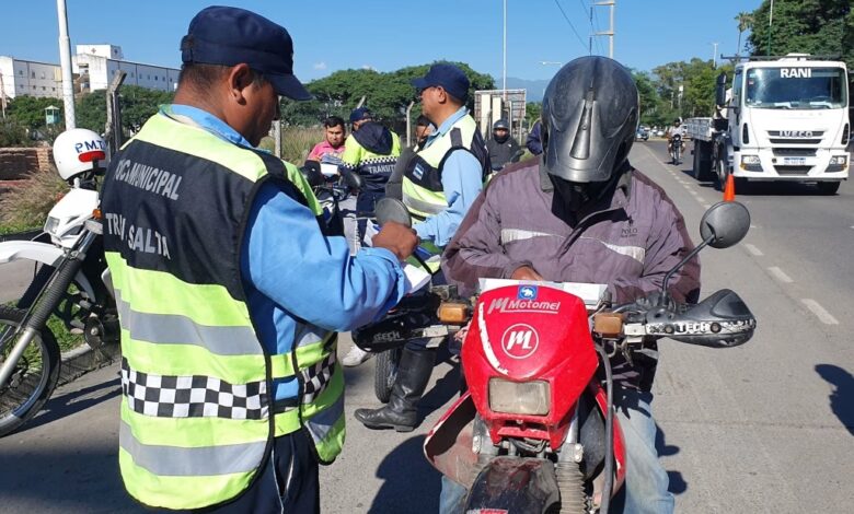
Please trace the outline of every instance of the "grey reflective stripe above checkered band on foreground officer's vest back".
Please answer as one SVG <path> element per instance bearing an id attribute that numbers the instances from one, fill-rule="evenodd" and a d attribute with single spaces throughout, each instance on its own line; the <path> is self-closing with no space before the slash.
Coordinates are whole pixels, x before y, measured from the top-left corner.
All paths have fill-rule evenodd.
<path id="1" fill-rule="evenodd" d="M 116 308 L 123 328 L 138 341 L 158 344 L 195 344 L 218 355 L 263 355 L 251 327 L 212 327 L 177 314 L 148 314 L 134 311 L 116 290 Z"/>

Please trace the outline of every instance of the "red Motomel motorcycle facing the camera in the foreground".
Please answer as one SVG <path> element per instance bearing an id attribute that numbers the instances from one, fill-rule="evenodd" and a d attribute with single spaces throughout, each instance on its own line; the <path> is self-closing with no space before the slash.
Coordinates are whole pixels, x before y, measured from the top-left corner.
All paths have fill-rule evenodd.
<path id="1" fill-rule="evenodd" d="M 608 512 L 626 463 L 609 358 L 631 359 L 662 337 L 718 348 L 747 342 L 757 322 L 735 292 L 679 305 L 666 291 L 700 249 L 735 245 L 749 225 L 740 203 L 713 206 L 701 221 L 703 243 L 667 274 L 661 292 L 635 303 L 586 305 L 563 284 L 530 282 L 482 292 L 473 308 L 442 303 L 445 323 L 471 322 L 461 354 L 469 390 L 424 448 L 469 490 L 464 512 Z"/>

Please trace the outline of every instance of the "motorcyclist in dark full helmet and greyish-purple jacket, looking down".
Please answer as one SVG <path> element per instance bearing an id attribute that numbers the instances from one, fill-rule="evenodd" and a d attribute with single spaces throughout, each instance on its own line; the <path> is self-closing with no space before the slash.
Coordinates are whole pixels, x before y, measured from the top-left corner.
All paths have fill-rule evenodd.
<path id="1" fill-rule="evenodd" d="M 542 160 L 498 174 L 475 200 L 443 255 L 449 280 L 463 292 L 480 278 L 604 283 L 618 304 L 660 290 L 693 245 L 673 202 L 628 163 L 637 122 L 637 87 L 623 66 L 590 56 L 561 69 L 543 100 Z M 668 291 L 695 300 L 699 278 L 694 258 Z M 650 410 L 657 354 L 648 343 L 632 362 L 612 359 L 625 512 L 673 510 Z M 442 511 L 455 512 L 464 491 L 442 484 Z"/>

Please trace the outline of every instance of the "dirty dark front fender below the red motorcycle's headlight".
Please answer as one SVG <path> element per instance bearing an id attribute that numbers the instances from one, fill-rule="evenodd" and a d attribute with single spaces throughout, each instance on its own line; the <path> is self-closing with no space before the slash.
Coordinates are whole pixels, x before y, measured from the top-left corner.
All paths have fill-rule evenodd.
<path id="1" fill-rule="evenodd" d="M 495 457 L 474 480 L 465 512 L 545 513 L 559 498 L 551 460 Z"/>

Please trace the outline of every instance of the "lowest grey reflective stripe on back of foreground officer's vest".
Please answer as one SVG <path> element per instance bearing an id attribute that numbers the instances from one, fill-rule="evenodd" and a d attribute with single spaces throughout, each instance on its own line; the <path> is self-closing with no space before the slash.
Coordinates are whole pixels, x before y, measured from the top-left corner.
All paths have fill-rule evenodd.
<path id="1" fill-rule="evenodd" d="M 252 472 L 264 458 L 266 440 L 220 446 L 180 447 L 142 444 L 134 437 L 130 425 L 120 422 L 119 445 L 130 454 L 134 464 L 161 477 L 204 477 Z"/>

